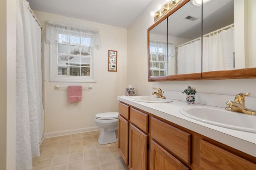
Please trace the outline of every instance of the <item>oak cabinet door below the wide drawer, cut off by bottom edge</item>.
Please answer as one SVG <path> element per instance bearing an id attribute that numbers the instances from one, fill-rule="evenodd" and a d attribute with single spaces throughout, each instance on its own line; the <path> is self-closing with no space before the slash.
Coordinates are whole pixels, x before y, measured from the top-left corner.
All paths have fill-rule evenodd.
<path id="1" fill-rule="evenodd" d="M 158 145 L 153 140 L 150 141 L 150 169 L 151 170 L 189 170 L 172 154 Z"/>

